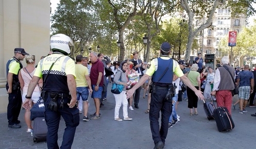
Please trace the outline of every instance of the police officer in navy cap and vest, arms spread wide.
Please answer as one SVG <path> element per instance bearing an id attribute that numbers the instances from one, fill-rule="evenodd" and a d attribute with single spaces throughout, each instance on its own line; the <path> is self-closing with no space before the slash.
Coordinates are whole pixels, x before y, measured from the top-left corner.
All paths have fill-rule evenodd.
<path id="1" fill-rule="evenodd" d="M 201 91 L 197 90 L 190 82 L 190 80 L 182 73 L 178 62 L 170 58 L 171 46 L 168 42 L 163 42 L 160 48 L 160 57 L 154 58 L 151 61 L 151 66 L 146 74 L 142 76 L 138 83 L 127 92 L 129 98 L 134 91 L 141 87 L 142 84 L 152 76 L 153 91 L 151 93 L 151 102 L 149 110 L 150 129 L 152 139 L 155 143 L 155 148 L 163 148 L 165 145 L 165 138 L 168 132 L 168 120 L 172 113 L 172 95 L 173 93 L 173 75 L 176 74 L 182 81 L 191 88 L 196 95 L 202 100 L 203 95 Z M 159 126 L 159 112 L 161 111 L 161 127 Z M 161 128 L 161 129 L 159 129 Z"/>

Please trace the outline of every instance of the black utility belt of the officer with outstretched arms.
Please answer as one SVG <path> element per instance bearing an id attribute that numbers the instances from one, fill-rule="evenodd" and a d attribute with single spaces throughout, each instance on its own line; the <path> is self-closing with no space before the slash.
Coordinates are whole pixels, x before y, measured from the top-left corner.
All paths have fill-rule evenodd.
<path id="1" fill-rule="evenodd" d="M 165 95 L 165 100 L 172 100 L 175 95 L 175 88 L 173 83 L 166 84 L 166 83 L 152 82 L 152 93 L 157 93 L 157 90 L 168 90 L 168 92 Z"/>

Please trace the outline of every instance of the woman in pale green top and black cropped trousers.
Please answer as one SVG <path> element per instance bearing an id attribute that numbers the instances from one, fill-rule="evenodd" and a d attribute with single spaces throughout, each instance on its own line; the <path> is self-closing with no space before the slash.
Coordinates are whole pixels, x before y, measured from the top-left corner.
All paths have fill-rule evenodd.
<path id="1" fill-rule="evenodd" d="M 194 63 L 191 66 L 190 73 L 187 75 L 187 77 L 190 79 L 191 83 L 197 90 L 201 90 L 200 74 L 199 74 L 199 72 L 197 72 L 197 70 L 198 70 L 198 65 L 196 63 Z M 187 108 L 190 109 L 190 116 L 193 116 L 194 114 L 198 115 L 198 112 L 197 112 L 198 98 L 197 98 L 195 92 L 193 90 L 191 90 L 189 87 L 187 87 L 186 91 L 187 91 L 187 99 L 189 101 Z M 193 108 L 194 108 L 195 113 L 193 113 Z"/>

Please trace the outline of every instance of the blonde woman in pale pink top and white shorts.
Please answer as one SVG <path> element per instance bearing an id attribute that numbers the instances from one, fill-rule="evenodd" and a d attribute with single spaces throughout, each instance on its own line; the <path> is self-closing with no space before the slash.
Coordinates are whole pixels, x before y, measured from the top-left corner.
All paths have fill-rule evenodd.
<path id="1" fill-rule="evenodd" d="M 28 84 L 36 71 L 35 55 L 26 55 L 25 60 L 26 60 L 27 66 L 25 68 L 21 69 L 19 72 L 19 81 L 21 83 L 22 101 L 23 102 L 26 99 L 25 96 L 27 95 Z M 39 81 L 39 83 L 42 83 L 42 79 Z M 41 90 L 40 90 L 40 86 L 38 84 L 38 86 L 36 86 L 35 90 L 33 91 L 33 94 L 31 97 L 33 103 L 37 103 L 40 96 L 41 96 Z M 25 111 L 25 122 L 27 124 L 27 133 L 32 133 L 33 128 L 32 128 L 31 120 L 30 120 L 30 109 L 26 109 L 26 111 Z"/>

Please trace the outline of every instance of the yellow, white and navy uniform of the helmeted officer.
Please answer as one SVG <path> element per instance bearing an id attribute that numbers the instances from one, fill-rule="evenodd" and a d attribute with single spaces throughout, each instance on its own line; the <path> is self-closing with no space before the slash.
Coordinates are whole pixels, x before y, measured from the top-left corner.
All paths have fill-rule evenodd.
<path id="1" fill-rule="evenodd" d="M 54 53 L 41 59 L 36 70 L 36 73 L 39 70 L 42 72 L 44 81 L 42 98 L 44 99 L 45 121 L 48 128 L 46 137 L 48 148 L 59 148 L 57 141 L 60 116 L 63 117 L 66 124 L 60 148 L 71 148 L 76 127 L 79 125 L 79 110 L 76 107 L 69 108 L 69 105 L 67 105 L 71 101 L 71 95 L 67 86 L 66 71 L 71 69 L 67 67 L 75 67 L 75 61 L 72 61 L 74 65 L 70 65 L 70 60 L 71 58 L 69 56 Z M 54 61 L 56 63 L 48 73 L 49 67 Z M 56 99 L 57 102 L 57 108 L 55 110 L 49 108 L 53 99 Z"/>

